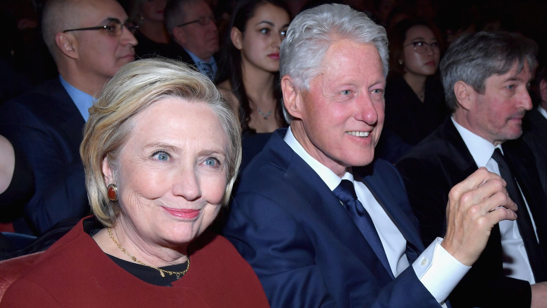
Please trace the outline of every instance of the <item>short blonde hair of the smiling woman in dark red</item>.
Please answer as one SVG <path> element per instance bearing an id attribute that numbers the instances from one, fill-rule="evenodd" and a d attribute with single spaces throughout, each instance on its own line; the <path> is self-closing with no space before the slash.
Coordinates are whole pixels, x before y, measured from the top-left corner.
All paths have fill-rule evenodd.
<path id="1" fill-rule="evenodd" d="M 113 226 L 120 209 L 118 202 L 108 199 L 102 161 L 106 157 L 116 174 L 120 153 L 135 124 L 132 118 L 168 97 L 204 102 L 218 116 L 228 138 L 227 185 L 222 199 L 228 204 L 241 163 L 241 129 L 232 107 L 222 100 L 209 78 L 182 62 L 137 60 L 121 67 L 89 109 L 80 145 L 91 210 L 105 226 Z"/>

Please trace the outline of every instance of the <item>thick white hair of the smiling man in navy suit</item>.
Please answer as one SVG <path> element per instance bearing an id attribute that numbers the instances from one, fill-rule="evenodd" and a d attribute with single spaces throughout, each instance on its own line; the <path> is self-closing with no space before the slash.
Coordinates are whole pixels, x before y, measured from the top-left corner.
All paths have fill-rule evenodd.
<path id="1" fill-rule="evenodd" d="M 293 78 L 296 87 L 309 89 L 310 80 L 323 71 L 323 58 L 333 42 L 348 39 L 356 43 L 374 44 L 382 59 L 383 76 L 389 69 L 386 29 L 366 14 L 343 4 L 323 4 L 298 14 L 290 23 L 287 37 L 281 44 L 280 76 Z M 284 104 L 283 116 L 290 123 L 292 116 Z"/>

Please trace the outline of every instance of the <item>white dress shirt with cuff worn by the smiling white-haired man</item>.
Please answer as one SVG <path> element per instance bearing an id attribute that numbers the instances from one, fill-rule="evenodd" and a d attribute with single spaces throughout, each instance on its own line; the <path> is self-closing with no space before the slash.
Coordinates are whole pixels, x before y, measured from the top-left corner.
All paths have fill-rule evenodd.
<path id="1" fill-rule="evenodd" d="M 363 204 L 366 212 L 373 220 L 374 227 L 378 232 L 382 246 L 386 252 L 389 267 L 395 277 L 399 276 L 408 266 L 406 258 L 406 239 L 397 229 L 397 226 L 389 218 L 380 203 L 374 198 L 368 187 L 362 182 L 358 175 L 353 175 L 351 168 L 340 178 L 332 170 L 319 163 L 304 150 L 298 140 L 294 137 L 290 127 L 287 130 L 284 141 L 293 149 L 298 156 L 310 165 L 310 167 L 327 184 L 329 189 L 334 190 L 342 181 L 347 179 L 353 182 L 357 198 Z M 452 255 L 440 246 L 443 241 L 438 237 L 418 256 L 412 264 L 414 272 L 440 305 L 446 307 L 444 301 L 456 287 L 456 284 L 465 276 L 471 267 L 459 263 Z"/>

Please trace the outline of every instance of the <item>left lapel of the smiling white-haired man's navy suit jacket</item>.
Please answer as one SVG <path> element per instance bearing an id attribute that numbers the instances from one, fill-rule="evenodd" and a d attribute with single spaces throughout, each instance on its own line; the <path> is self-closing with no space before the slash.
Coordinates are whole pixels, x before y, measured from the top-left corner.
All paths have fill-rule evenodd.
<path id="1" fill-rule="evenodd" d="M 334 237 L 344 244 L 354 255 L 368 267 L 376 280 L 383 287 L 392 281 L 380 259 L 369 243 L 353 223 L 340 201 L 330 191 L 319 175 L 283 141 L 285 130 L 278 130 L 269 142 L 269 150 L 274 154 L 271 162 L 286 170 L 283 179 L 294 187 L 302 200 L 319 220 L 331 231 Z"/>

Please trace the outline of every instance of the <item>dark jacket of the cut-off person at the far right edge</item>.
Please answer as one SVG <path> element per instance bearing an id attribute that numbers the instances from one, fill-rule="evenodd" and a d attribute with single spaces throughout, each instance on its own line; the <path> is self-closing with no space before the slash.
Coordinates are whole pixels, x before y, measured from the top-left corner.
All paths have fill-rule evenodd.
<path id="1" fill-rule="evenodd" d="M 534 108 L 526 112 L 523 130 L 522 139 L 534 153 L 539 180 L 547 196 L 547 119 Z"/>

